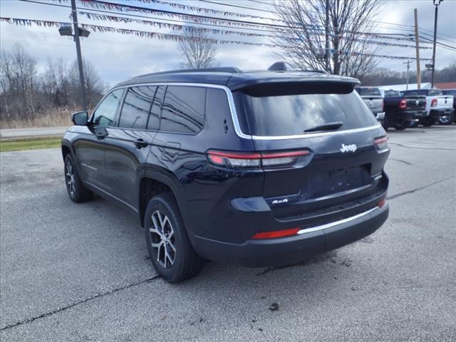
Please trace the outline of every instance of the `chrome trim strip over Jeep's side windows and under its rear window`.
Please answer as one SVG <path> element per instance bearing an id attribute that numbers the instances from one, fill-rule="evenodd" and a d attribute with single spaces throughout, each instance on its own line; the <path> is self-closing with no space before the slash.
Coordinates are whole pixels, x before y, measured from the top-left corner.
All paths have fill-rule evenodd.
<path id="1" fill-rule="evenodd" d="M 326 136 L 332 136 L 332 135 L 360 133 L 360 132 L 366 132 L 368 130 L 375 130 L 375 129 L 381 128 L 380 123 L 377 123 L 376 125 L 372 125 L 372 126 L 368 126 L 368 127 L 353 128 L 351 130 L 339 130 L 339 131 L 332 131 L 332 132 L 306 133 L 306 134 L 299 134 L 299 135 L 271 135 L 271 136 L 248 135 L 248 134 L 245 134 L 244 132 L 242 132 L 242 130 L 241 130 L 241 125 L 239 124 L 239 119 L 237 117 L 236 107 L 234 105 L 234 98 L 233 98 L 233 93 L 232 93 L 231 89 L 229 89 L 227 86 L 222 86 L 219 84 L 212 84 L 212 83 L 192 83 L 192 82 L 133 83 L 133 84 L 125 85 L 125 86 L 117 86 L 117 87 L 111 88 L 105 96 L 107 96 L 113 90 L 117 90 L 117 89 L 121 89 L 121 88 L 140 87 L 140 86 L 189 86 L 189 87 L 202 87 L 202 88 L 213 88 L 213 89 L 224 90 L 224 92 L 227 94 L 227 98 L 228 98 L 229 111 L 231 113 L 231 117 L 232 117 L 232 121 L 233 121 L 233 125 L 234 125 L 234 131 L 236 132 L 236 134 L 239 138 L 243 138 L 243 139 L 289 140 L 289 139 L 301 139 L 301 138 L 315 138 L 315 137 L 326 137 Z M 102 100 L 105 98 L 105 96 L 103 96 Z M 98 105 L 101 103 L 102 100 L 100 100 Z M 93 113 L 95 113 L 95 110 L 96 110 L 96 108 L 98 108 L 98 105 L 93 110 Z M 91 119 L 91 116 L 92 115 L 90 115 L 90 119 Z"/>

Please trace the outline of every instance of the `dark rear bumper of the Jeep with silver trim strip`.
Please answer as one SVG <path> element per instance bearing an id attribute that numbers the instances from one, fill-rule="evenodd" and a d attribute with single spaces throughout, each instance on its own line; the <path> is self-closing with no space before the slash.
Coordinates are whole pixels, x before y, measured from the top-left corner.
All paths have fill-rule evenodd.
<path id="1" fill-rule="evenodd" d="M 195 237 L 195 249 L 207 259 L 249 267 L 279 266 L 356 242 L 388 218 L 388 203 L 338 222 L 303 229 L 292 237 L 247 240 L 242 244 Z"/>

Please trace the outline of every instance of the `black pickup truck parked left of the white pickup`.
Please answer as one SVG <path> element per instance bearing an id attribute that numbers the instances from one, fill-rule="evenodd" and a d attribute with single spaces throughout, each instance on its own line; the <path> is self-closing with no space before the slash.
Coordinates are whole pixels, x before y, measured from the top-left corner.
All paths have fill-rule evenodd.
<path id="1" fill-rule="evenodd" d="M 396 130 L 405 130 L 410 124 L 427 116 L 426 97 L 423 95 L 403 96 L 398 90 L 385 90 L 384 96 L 385 130 L 390 126 Z"/>

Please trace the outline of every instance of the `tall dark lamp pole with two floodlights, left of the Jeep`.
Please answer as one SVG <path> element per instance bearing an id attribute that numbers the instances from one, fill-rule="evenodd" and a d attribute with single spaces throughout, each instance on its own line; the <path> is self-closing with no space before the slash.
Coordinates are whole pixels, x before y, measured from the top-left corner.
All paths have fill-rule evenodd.
<path id="1" fill-rule="evenodd" d="M 90 31 L 86 30 L 86 28 L 82 28 L 78 26 L 78 14 L 76 12 L 76 0 L 71 0 L 71 15 L 73 16 L 73 29 L 71 28 L 71 24 L 63 24 L 58 28 L 58 33 L 61 36 L 73 36 L 74 41 L 76 43 L 76 55 L 78 56 L 78 70 L 79 70 L 79 82 L 81 83 L 81 105 L 83 106 L 83 110 L 88 110 L 87 101 L 86 101 L 86 86 L 84 82 L 84 72 L 83 72 L 83 58 L 81 56 L 81 42 L 79 41 L 79 37 L 88 37 Z"/>

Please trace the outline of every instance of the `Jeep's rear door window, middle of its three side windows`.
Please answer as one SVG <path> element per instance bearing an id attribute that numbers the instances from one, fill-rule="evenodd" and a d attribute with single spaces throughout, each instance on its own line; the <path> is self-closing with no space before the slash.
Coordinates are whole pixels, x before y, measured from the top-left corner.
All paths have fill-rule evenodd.
<path id="1" fill-rule="evenodd" d="M 128 89 L 120 111 L 119 127 L 145 129 L 156 89 L 154 86 Z"/>

